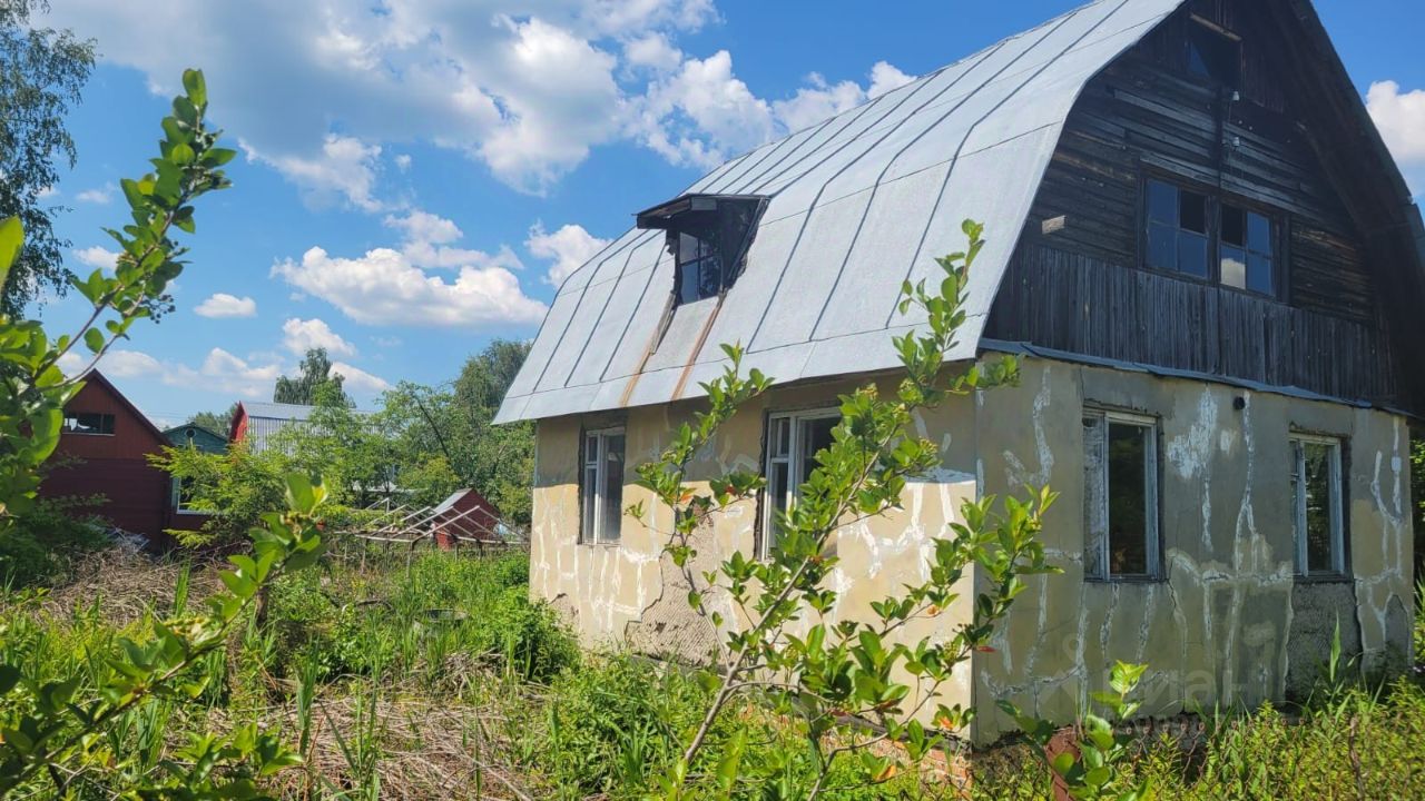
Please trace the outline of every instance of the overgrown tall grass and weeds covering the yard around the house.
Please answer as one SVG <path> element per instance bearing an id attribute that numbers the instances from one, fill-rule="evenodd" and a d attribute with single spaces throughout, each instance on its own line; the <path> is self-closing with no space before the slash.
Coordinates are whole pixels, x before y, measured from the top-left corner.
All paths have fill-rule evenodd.
<path id="1" fill-rule="evenodd" d="M 194 717 L 201 708 L 151 704 L 115 728 L 115 747 L 142 754 L 142 770 L 162 770 L 185 731 L 258 720 L 308 760 L 274 780 L 278 797 L 574 801 L 657 792 L 656 777 L 675 761 L 707 703 L 691 676 L 627 654 L 580 653 L 554 613 L 529 600 L 523 554 L 425 553 L 409 566 L 405 554 L 366 556 L 332 559 L 274 589 L 228 651 L 201 666 L 205 720 Z M 0 596 L 0 661 L 40 676 L 91 673 L 115 637 L 195 606 L 212 586 L 201 566 L 155 574 L 167 594 L 140 594 L 148 611 L 118 620 L 111 611 L 131 601 Z M 1425 620 L 1415 641 L 1416 654 L 1425 653 Z M 1161 798 L 1425 798 L 1425 691 L 1412 680 L 1371 687 L 1355 676 L 1338 666 L 1291 715 L 1263 707 L 1149 738 L 1131 770 L 1151 775 Z M 0 718 L 7 711 L 0 700 Z M 795 798 L 812 772 L 797 733 L 748 700 L 712 733 L 708 761 L 690 774 L 711 774 L 734 741 L 744 753 L 732 798 Z M 1022 745 L 976 755 L 973 772 L 975 798 L 1050 797 L 1040 760 Z M 933 777 L 902 774 L 866 787 L 849 775 L 834 777 L 831 798 L 959 798 Z M 121 787 L 123 777 L 113 782 Z M 712 797 L 694 785 L 694 797 Z"/>

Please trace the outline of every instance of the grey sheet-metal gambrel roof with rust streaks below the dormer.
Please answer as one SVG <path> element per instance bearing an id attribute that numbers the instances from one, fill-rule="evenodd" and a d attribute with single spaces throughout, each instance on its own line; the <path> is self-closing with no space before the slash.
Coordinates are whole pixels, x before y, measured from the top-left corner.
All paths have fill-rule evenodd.
<path id="1" fill-rule="evenodd" d="M 673 259 L 633 229 L 560 286 L 497 422 L 665 403 L 703 393 L 721 342 L 779 383 L 895 368 L 905 278 L 986 224 L 972 358 L 1074 101 L 1184 0 L 1099 0 L 714 170 L 688 192 L 771 198 L 724 298 L 680 305 L 661 341 Z"/>

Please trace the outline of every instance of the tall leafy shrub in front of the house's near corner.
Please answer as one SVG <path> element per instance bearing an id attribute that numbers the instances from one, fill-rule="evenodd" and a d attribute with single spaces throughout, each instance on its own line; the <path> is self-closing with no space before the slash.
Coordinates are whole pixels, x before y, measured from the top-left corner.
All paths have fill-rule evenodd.
<path id="1" fill-rule="evenodd" d="M 794 721 L 809 747 L 815 770 L 807 784 L 787 788 L 791 795 L 814 798 L 825 792 L 838 763 L 859 767 L 864 785 L 884 781 L 901 768 L 898 757 L 872 751 L 885 741 L 899 744 L 906 761 L 919 764 L 943 741 L 940 733 L 919 723 L 921 713 L 929 711 L 958 664 L 988 647 L 995 626 L 1023 591 L 1023 577 L 1056 572 L 1037 539 L 1053 493 L 1033 490 L 1023 502 L 1005 499 L 1003 510 L 996 499 L 986 497 L 966 503 L 960 510 L 965 522 L 952 524 L 936 540 L 925 572 L 928 580 L 872 603 L 869 620 L 831 624 L 824 617 L 838 600 L 838 593 L 825 586 L 838 563 L 836 532 L 848 522 L 898 509 L 906 482 L 940 463 L 939 446 L 915 433 L 915 415 L 952 396 L 1017 379 L 1017 363 L 1010 358 L 965 369 L 945 363 L 965 324 L 969 271 L 985 247 L 980 225 L 966 221 L 963 231 L 969 247 L 938 259 L 942 278 L 936 286 L 908 281 L 902 288 L 901 314 L 916 309 L 925 326 L 895 338 L 905 368 L 895 396 L 882 399 L 876 386 L 868 385 L 841 398 L 831 446 L 817 453 L 817 467 L 798 489 L 797 503 L 772 520 L 777 539 L 770 559 L 734 553 L 717 572 L 695 574 L 688 567 L 697 556 L 694 533 L 712 515 L 750 499 L 765 485 L 762 476 L 738 470 L 712 477 L 710 492 L 701 493 L 687 477 L 694 453 L 740 406 L 771 386 L 771 379 L 757 369 L 742 378 L 740 346 L 722 346 L 730 365 L 720 379 L 704 385 L 708 409 L 674 432 L 657 460 L 636 469 L 638 483 L 673 510 L 673 530 L 664 532 L 665 550 L 693 587 L 690 606 L 722 634 L 721 653 L 703 674 L 715 691 L 681 761 L 661 781 L 667 798 L 685 797 L 690 768 L 707 747 L 708 734 L 734 696 L 747 691 L 760 693 L 778 714 Z M 643 517 L 641 509 L 630 513 Z M 906 643 L 905 629 L 950 607 L 972 574 L 978 574 L 975 586 L 980 590 L 972 620 L 955 627 L 949 637 Z M 711 591 L 724 593 L 745 621 L 710 611 L 704 599 Z M 933 708 L 936 725 L 949 731 L 968 725 L 972 714 L 959 706 Z"/>

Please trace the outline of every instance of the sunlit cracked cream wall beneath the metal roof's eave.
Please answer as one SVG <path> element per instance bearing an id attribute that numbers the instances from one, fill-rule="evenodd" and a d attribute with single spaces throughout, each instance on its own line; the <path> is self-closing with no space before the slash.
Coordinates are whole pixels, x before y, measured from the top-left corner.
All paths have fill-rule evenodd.
<path id="1" fill-rule="evenodd" d="M 730 469 L 758 469 L 762 453 L 762 423 L 767 412 L 834 408 L 838 395 L 855 382 L 828 382 L 777 388 L 744 408 L 700 452 L 690 465 L 694 483 Z M 882 392 L 893 392 L 895 381 L 882 381 Z M 644 503 L 643 522 L 624 516 L 617 546 L 580 544 L 579 540 L 579 433 L 581 426 L 623 425 L 627 432 L 627 465 L 653 460 L 675 428 L 691 419 L 697 403 L 630 409 L 623 416 L 546 419 L 539 423 L 539 452 L 534 480 L 534 524 L 532 529 L 530 586 L 536 597 L 550 600 L 576 627 L 584 644 L 620 647 L 644 653 L 701 658 L 710 643 L 708 624 L 688 613 L 683 576 L 661 556 L 664 534 L 671 523 L 667 509 L 658 509 L 643 489 L 626 486 L 624 503 Z M 905 509 L 841 530 L 835 540 L 841 563 L 828 576 L 839 603 L 829 623 L 851 614 L 866 614 L 874 600 L 902 591 L 909 582 L 928 579 L 935 537 L 949 520 L 962 520 L 959 507 L 975 497 L 973 409 L 968 398 L 916 419 L 922 436 L 940 443 L 942 467 L 926 480 L 912 482 Z M 754 553 L 755 502 L 742 502 L 697 534 L 700 552 L 695 573 L 715 567 L 734 550 Z M 911 627 L 908 641 L 922 637 L 949 639 L 955 627 L 969 620 L 970 579 L 965 597 L 935 620 Z M 708 609 L 735 620 L 725 597 L 711 596 Z M 970 673 L 966 663 L 952 687 L 942 693 L 946 703 L 970 701 Z"/>

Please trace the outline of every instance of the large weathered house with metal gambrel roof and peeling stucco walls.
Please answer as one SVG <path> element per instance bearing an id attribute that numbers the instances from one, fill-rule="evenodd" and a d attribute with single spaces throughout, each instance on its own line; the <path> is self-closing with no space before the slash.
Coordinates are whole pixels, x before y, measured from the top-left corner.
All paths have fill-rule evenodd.
<path id="1" fill-rule="evenodd" d="M 916 420 L 943 463 L 839 533 L 831 617 L 919 576 L 965 499 L 1049 485 L 1064 573 L 948 691 L 972 738 L 1010 725 L 999 698 L 1072 718 L 1114 660 L 1150 664 L 1146 714 L 1304 693 L 1338 623 L 1401 664 L 1425 227 L 1308 0 L 1099 0 L 638 214 L 564 281 L 499 415 L 539 423 L 533 593 L 590 641 L 705 653 L 663 537 L 624 515 L 656 506 L 631 467 L 741 342 L 777 388 L 693 475 L 771 489 L 700 533 L 694 574 L 765 553 L 838 393 L 895 386 L 902 282 L 966 218 L 988 245 L 949 358 L 1017 353 L 1022 383 Z"/>

